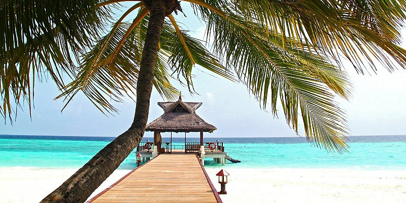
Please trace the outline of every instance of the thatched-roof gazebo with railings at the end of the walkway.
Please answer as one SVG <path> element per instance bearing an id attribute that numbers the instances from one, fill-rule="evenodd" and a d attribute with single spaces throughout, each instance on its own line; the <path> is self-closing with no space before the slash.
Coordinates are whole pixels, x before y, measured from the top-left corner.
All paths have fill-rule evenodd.
<path id="1" fill-rule="evenodd" d="M 158 102 L 163 109 L 163 114 L 146 126 L 146 131 L 154 132 L 154 142 L 140 142 L 136 153 L 140 154 L 143 161 L 150 160 L 161 153 L 195 153 L 204 165 L 206 158 L 213 158 L 218 163 L 225 163 L 228 159 L 238 161 L 227 156 L 224 152 L 223 142 L 203 142 L 204 132 L 213 132 L 217 128 L 201 119 L 196 114 L 196 109 L 202 103 L 184 102 L 182 96 L 173 102 Z M 171 132 L 171 142 L 162 143 L 161 132 Z M 185 145 L 172 145 L 172 132 L 185 132 Z M 200 142 L 186 142 L 187 132 L 200 132 Z M 174 150 L 172 147 L 175 147 Z M 182 147 L 177 148 L 177 147 Z M 239 162 L 239 161 L 238 161 Z"/>

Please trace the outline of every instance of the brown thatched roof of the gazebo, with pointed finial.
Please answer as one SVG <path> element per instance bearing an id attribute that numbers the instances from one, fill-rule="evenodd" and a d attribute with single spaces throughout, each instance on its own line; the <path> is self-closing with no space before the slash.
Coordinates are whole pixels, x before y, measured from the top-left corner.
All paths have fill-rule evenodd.
<path id="1" fill-rule="evenodd" d="M 201 103 L 183 102 L 181 96 L 175 102 L 158 102 L 164 113 L 147 125 L 147 131 L 161 132 L 212 132 L 217 128 L 201 119 L 196 109 Z"/>

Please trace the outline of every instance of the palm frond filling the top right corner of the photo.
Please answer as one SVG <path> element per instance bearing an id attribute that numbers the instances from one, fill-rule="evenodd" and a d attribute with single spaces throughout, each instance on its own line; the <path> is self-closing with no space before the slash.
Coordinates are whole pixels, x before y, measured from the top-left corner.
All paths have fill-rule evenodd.
<path id="1" fill-rule="evenodd" d="M 248 0 L 234 4 L 232 9 L 246 16 L 247 26 L 264 22 L 264 29 L 302 39 L 338 63 L 339 54 L 343 54 L 360 73 L 364 71 L 364 61 L 374 71 L 375 59 L 389 71 L 394 70 L 391 58 L 402 66 L 406 64 L 406 51 L 398 46 L 399 30 L 406 18 L 404 0 Z M 251 16 L 247 16 L 248 12 Z"/>

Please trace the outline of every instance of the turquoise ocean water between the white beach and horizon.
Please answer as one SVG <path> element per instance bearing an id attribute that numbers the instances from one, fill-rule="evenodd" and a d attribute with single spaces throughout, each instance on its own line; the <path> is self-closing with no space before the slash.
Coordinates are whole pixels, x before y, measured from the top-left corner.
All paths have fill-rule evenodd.
<path id="1" fill-rule="evenodd" d="M 225 151 L 241 163 L 222 166 L 205 160 L 205 167 L 225 168 L 348 168 L 358 170 L 406 170 L 406 136 L 349 136 L 349 153 L 328 153 L 306 142 L 306 138 L 207 138 L 219 140 Z M 143 141 L 152 138 L 144 138 Z M 0 135 L 0 167 L 79 168 L 111 137 L 10 136 Z M 170 138 L 163 138 L 170 142 Z M 187 142 L 199 142 L 187 138 Z M 173 138 L 182 145 L 184 138 Z M 131 153 L 119 169 L 136 167 Z"/>

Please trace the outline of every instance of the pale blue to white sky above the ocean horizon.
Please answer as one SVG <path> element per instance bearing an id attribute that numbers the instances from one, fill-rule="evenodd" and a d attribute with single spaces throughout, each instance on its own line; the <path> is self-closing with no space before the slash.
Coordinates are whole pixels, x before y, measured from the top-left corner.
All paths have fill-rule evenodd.
<path id="1" fill-rule="evenodd" d="M 192 18 L 192 11 L 187 8 L 184 11 L 187 18 L 182 14 L 176 18 L 185 22 L 188 29 L 197 30 L 191 32 L 192 36 L 203 36 L 201 30 L 204 29 Z M 402 47 L 406 48 L 406 45 L 403 43 Z M 351 66 L 345 66 L 354 84 L 353 97 L 349 101 L 340 98 L 336 101 L 347 112 L 349 136 L 406 134 L 406 70 L 400 66 L 396 68 L 397 71 L 389 73 L 378 65 L 377 74 L 370 71 L 370 75 L 358 75 Z M 243 84 L 210 76 L 201 67 L 196 67 L 193 74 L 198 94 L 190 95 L 186 88 L 179 84 L 175 86 L 182 90 L 183 101 L 203 103 L 196 113 L 217 127 L 205 137 L 298 136 L 287 125 L 281 108 L 278 109 L 279 118 L 275 118 L 270 111 L 260 108 Z M 57 95 L 59 92 L 52 82 L 37 83 L 32 117 L 25 105 L 22 110 L 18 109 L 13 125 L 2 119 L 0 134 L 116 137 L 128 129 L 133 120 L 135 103 L 128 97 L 123 103 L 115 103 L 119 114 L 107 117 L 83 95 L 77 95 L 61 112 L 63 100 L 53 100 Z M 153 90 L 148 122 L 162 115 L 163 110 L 157 105 L 159 101 L 164 100 Z M 302 125 L 299 128 L 299 136 L 304 136 Z M 146 132 L 145 136 L 152 137 L 153 134 Z M 174 137 L 183 136 L 174 133 Z M 191 137 L 195 136 L 198 134 L 191 134 Z"/>

